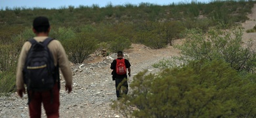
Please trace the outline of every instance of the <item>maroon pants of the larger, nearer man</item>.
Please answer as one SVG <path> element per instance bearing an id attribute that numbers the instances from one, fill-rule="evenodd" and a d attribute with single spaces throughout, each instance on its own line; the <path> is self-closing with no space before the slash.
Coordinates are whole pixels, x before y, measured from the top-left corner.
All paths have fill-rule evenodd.
<path id="1" fill-rule="evenodd" d="M 60 91 L 58 84 L 54 85 L 53 92 L 30 92 L 32 100 L 28 105 L 30 109 L 30 117 L 41 117 L 41 104 L 45 108 L 45 113 L 48 118 L 59 117 L 58 109 L 60 107 Z"/>

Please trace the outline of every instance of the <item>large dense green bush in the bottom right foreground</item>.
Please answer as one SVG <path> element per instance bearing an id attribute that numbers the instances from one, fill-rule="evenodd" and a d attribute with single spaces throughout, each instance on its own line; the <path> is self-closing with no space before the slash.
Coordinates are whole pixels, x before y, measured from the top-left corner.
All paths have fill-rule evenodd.
<path id="1" fill-rule="evenodd" d="M 255 117 L 255 79 L 249 78 L 224 60 L 192 61 L 156 75 L 142 71 L 131 94 L 112 108 L 126 117 Z"/>

